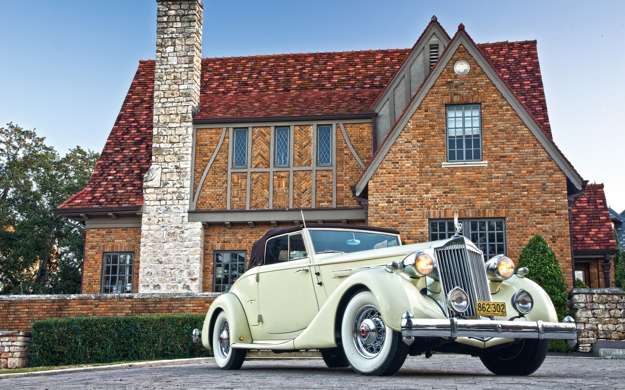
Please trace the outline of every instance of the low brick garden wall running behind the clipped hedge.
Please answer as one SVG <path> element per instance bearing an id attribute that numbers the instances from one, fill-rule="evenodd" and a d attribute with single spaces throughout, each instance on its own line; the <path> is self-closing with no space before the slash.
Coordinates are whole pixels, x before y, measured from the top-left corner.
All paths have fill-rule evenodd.
<path id="1" fill-rule="evenodd" d="M 30 331 L 34 321 L 82 316 L 206 314 L 206 293 L 0 295 L 0 330 Z"/>

